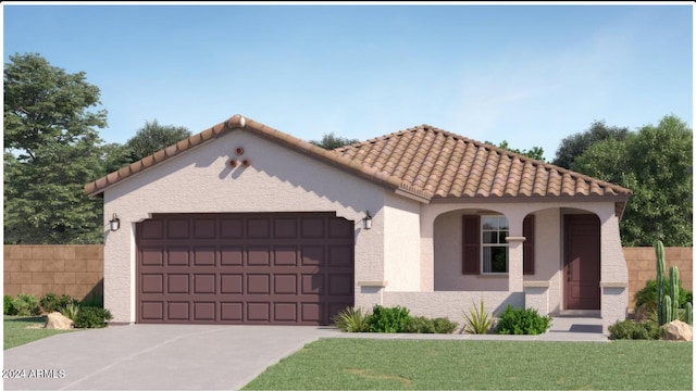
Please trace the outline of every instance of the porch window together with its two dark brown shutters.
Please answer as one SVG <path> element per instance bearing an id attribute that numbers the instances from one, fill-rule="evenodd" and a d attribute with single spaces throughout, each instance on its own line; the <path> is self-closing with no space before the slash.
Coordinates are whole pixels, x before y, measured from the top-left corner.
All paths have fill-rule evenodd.
<path id="1" fill-rule="evenodd" d="M 527 215 L 522 225 L 523 274 L 534 274 L 534 215 Z M 502 215 L 462 216 L 462 274 L 508 273 L 508 219 Z"/>

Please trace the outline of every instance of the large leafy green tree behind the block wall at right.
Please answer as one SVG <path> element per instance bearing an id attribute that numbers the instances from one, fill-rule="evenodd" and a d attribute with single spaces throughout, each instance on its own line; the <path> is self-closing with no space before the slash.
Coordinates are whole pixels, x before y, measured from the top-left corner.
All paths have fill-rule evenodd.
<path id="1" fill-rule="evenodd" d="M 575 159 L 579 172 L 633 190 L 621 220 L 623 245 L 692 247 L 693 131 L 668 115 L 623 140 L 594 143 Z"/>

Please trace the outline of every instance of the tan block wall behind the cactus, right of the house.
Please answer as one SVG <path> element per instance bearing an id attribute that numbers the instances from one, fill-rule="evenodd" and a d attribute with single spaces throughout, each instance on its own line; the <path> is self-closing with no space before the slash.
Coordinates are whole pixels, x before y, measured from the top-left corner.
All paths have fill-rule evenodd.
<path id="1" fill-rule="evenodd" d="M 629 310 L 633 311 L 635 292 L 645 287 L 648 280 L 656 278 L 657 261 L 655 248 L 623 248 L 623 256 L 629 266 Z M 669 273 L 671 266 L 679 268 L 679 276 L 684 289 L 694 290 L 694 249 L 664 248 L 664 270 Z"/>

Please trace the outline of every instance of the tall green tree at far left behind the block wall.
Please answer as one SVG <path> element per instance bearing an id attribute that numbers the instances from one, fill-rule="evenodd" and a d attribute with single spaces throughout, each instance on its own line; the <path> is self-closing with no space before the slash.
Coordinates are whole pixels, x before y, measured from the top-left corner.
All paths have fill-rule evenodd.
<path id="1" fill-rule="evenodd" d="M 4 242 L 102 242 L 102 201 L 84 192 L 101 173 L 99 88 L 37 53 L 10 55 L 3 76 Z"/>

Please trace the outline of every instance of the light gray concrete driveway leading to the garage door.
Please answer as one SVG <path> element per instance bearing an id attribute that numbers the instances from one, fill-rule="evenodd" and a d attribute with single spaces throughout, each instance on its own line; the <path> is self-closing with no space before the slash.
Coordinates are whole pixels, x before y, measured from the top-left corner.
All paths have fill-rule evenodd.
<path id="1" fill-rule="evenodd" d="M 3 382 L 5 390 L 238 390 L 304 344 L 338 335 L 302 326 L 113 326 L 4 351 Z"/>

